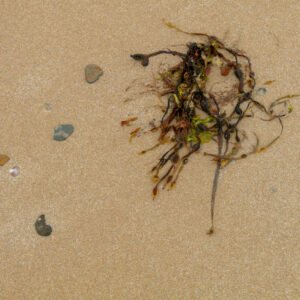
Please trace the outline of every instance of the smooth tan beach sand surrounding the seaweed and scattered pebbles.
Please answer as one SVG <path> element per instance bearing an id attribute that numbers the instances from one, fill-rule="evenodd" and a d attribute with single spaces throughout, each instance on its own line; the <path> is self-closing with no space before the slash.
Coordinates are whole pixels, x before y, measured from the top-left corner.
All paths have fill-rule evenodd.
<path id="1" fill-rule="evenodd" d="M 279 142 L 222 173 L 215 235 L 207 157 L 152 201 L 161 150 L 137 153 L 157 136 L 130 144 L 135 127 L 120 121 L 151 120 L 156 96 L 125 89 L 168 61 L 143 68 L 129 55 L 193 40 L 163 18 L 246 51 L 257 86 L 275 80 L 259 101 L 300 92 L 298 0 L 2 0 L 0 299 L 300 299 L 299 100 Z M 94 84 L 90 63 L 104 70 Z M 53 141 L 61 123 L 75 131 Z M 265 126 L 267 141 L 279 127 Z M 40 214 L 49 237 L 34 229 Z"/>

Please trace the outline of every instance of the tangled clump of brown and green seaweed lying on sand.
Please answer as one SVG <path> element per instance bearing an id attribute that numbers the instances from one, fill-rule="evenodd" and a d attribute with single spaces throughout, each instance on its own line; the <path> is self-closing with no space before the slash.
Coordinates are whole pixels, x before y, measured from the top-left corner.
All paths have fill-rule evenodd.
<path id="1" fill-rule="evenodd" d="M 131 55 L 144 67 L 148 66 L 151 58 L 161 54 L 180 59 L 178 64 L 159 73 L 162 82 L 159 93 L 167 97 L 167 105 L 160 124 L 151 130 L 160 132 L 158 144 L 142 153 L 166 141 L 171 144 L 152 169 L 155 198 L 160 186 L 171 188 L 175 185 L 192 154 L 206 143 L 216 143 L 217 153 L 204 152 L 216 162 L 211 195 L 211 228 L 208 231 L 212 234 L 220 170 L 232 161 L 245 159 L 270 147 L 282 134 L 282 118 L 292 111 L 289 99 L 298 95 L 287 95 L 278 98 L 269 107 L 264 106 L 254 99 L 255 74 L 246 54 L 225 46 L 215 36 L 189 33 L 171 23 L 167 25 L 198 36 L 203 41 L 188 43 L 186 52 L 168 49 Z M 264 115 L 260 117 L 263 121 L 278 121 L 281 130 L 265 145 L 260 145 L 255 134 L 254 144 L 245 151 L 243 144 L 247 135 L 239 125 L 244 118 L 253 118 L 257 111 Z"/>

